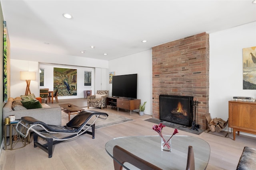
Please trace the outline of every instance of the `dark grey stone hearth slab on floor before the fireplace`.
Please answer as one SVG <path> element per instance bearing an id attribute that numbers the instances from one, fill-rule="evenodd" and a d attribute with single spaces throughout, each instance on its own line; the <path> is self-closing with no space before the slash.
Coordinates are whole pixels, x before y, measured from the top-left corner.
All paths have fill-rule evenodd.
<path id="1" fill-rule="evenodd" d="M 189 132 L 189 133 L 194 133 L 194 134 L 197 134 L 197 135 L 199 135 L 200 133 L 202 133 L 204 131 L 202 129 L 198 129 L 198 131 L 196 131 L 196 130 L 191 129 L 191 127 L 187 127 L 187 126 L 184 126 L 184 125 L 179 125 L 179 124 L 176 124 L 176 123 L 171 123 L 171 122 L 168 122 L 168 121 L 162 121 L 162 120 L 156 119 L 156 118 L 145 119 L 145 121 L 149 121 L 149 122 L 156 123 L 156 124 L 163 123 L 167 127 L 172 127 L 174 129 L 178 129 L 178 130 L 181 130 L 181 131 L 186 131 L 186 132 Z"/>

